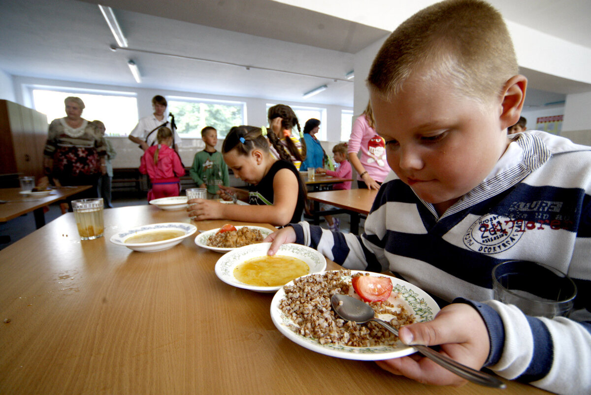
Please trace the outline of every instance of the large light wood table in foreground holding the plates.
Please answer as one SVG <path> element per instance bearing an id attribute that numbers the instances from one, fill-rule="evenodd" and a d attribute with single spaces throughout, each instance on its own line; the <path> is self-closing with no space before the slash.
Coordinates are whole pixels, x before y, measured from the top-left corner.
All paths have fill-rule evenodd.
<path id="1" fill-rule="evenodd" d="M 109 209 L 105 237 L 80 241 L 67 213 L 0 251 L 0 393 L 501 393 L 426 386 L 300 347 L 275 329 L 273 294 L 217 279 L 222 255 L 194 237 L 160 252 L 109 242 L 155 222 L 190 220 L 148 205 Z M 503 393 L 536 392 L 509 383 Z"/>

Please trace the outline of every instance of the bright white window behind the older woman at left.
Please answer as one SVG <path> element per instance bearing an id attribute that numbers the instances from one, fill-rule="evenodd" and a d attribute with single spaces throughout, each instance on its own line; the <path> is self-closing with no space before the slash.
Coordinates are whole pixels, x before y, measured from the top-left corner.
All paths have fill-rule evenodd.
<path id="1" fill-rule="evenodd" d="M 138 123 L 138 101 L 135 93 L 54 87 L 31 87 L 33 107 L 47 115 L 47 122 L 66 116 L 64 99 L 77 96 L 84 102 L 82 118 L 102 121 L 105 134 L 127 136 Z"/>

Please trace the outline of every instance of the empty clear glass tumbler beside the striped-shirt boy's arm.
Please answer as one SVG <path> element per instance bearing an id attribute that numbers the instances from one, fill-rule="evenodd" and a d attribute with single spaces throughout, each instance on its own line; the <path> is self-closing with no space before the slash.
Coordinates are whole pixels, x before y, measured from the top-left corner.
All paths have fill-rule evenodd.
<path id="1" fill-rule="evenodd" d="M 506 261 L 492 269 L 495 299 L 515 305 L 527 315 L 569 316 L 577 286 L 553 267 L 528 261 Z"/>

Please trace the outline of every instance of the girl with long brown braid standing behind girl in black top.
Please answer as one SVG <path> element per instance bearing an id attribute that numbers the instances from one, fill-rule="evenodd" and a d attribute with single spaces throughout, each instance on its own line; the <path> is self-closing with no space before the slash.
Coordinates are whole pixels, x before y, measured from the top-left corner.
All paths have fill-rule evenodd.
<path id="1" fill-rule="evenodd" d="M 306 159 L 306 141 L 296 113 L 290 106 L 277 104 L 269 108 L 267 118 L 271 125 L 267 134 L 271 155 L 276 159 L 290 160 L 299 171 Z"/>

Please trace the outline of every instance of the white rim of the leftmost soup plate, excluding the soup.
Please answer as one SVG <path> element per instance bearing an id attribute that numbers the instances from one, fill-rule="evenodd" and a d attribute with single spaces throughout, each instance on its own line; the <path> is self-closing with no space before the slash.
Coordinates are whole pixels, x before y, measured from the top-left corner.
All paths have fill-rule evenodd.
<path id="1" fill-rule="evenodd" d="M 171 239 L 147 243 L 134 243 L 126 241 L 128 238 L 135 235 L 154 233 L 158 231 L 182 231 L 183 234 Z M 125 247 L 134 251 L 164 251 L 168 250 L 168 248 L 174 247 L 177 244 L 180 244 L 180 242 L 194 234 L 196 231 L 197 226 L 195 225 L 185 224 L 184 222 L 165 222 L 163 224 L 135 226 L 135 228 L 127 229 L 124 232 L 119 232 L 118 234 L 112 235 L 111 242 L 117 245 L 125 245 Z"/>

